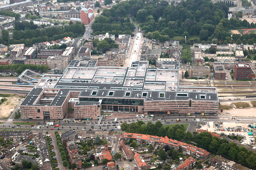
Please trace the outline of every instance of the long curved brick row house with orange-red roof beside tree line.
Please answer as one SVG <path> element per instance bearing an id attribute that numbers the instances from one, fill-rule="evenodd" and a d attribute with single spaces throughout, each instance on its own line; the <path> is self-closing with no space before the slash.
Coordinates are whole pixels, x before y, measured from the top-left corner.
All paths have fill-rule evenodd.
<path id="1" fill-rule="evenodd" d="M 136 143 L 152 143 L 152 145 L 160 145 L 161 147 L 168 145 L 173 149 L 178 149 L 179 147 L 181 147 L 184 154 L 196 156 L 197 158 L 200 158 L 202 160 L 206 160 L 210 156 L 210 153 L 202 148 L 169 139 L 167 136 L 158 137 L 147 134 L 123 133 L 121 137 L 123 139 L 133 138 Z"/>

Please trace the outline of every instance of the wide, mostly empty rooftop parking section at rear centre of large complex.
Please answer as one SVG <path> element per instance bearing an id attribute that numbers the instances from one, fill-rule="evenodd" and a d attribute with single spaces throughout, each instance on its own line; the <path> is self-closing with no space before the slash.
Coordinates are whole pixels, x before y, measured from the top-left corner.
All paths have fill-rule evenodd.
<path id="1" fill-rule="evenodd" d="M 110 69 L 110 68 L 103 68 L 99 67 L 95 75 L 101 75 L 101 76 L 124 76 L 126 72 L 126 68 L 116 68 L 116 69 Z"/>

